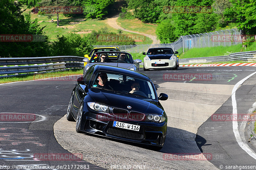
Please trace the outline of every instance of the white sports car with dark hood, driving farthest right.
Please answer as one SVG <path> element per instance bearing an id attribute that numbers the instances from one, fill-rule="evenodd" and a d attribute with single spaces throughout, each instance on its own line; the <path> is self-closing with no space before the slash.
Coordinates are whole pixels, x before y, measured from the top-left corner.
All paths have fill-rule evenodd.
<path id="1" fill-rule="evenodd" d="M 143 70 L 171 68 L 177 70 L 179 67 L 178 57 L 172 48 L 149 48 L 147 54 L 144 52 Z"/>

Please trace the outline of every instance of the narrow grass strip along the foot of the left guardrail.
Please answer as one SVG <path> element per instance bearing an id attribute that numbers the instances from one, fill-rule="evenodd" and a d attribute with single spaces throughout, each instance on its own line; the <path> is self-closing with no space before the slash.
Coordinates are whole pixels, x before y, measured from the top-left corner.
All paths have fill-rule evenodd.
<path id="1" fill-rule="evenodd" d="M 11 83 L 16 81 L 37 80 L 42 78 L 70 76 L 70 75 L 83 75 L 83 69 L 74 69 L 74 70 L 58 71 L 58 72 L 50 72 L 50 73 L 46 72 L 46 73 L 38 73 L 35 75 L 24 75 L 24 76 L 0 78 L 0 84 Z"/>

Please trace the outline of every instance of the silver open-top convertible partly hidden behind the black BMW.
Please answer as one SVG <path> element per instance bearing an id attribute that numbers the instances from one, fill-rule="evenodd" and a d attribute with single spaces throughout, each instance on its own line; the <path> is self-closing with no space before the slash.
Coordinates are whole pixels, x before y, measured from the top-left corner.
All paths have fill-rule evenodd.
<path id="1" fill-rule="evenodd" d="M 84 58 L 83 62 L 87 62 L 87 64 L 84 66 L 85 74 L 86 71 L 94 64 L 116 66 L 133 71 L 139 71 L 141 60 L 133 60 L 131 54 L 123 51 L 101 51 L 93 53 L 90 61 L 88 58 Z"/>

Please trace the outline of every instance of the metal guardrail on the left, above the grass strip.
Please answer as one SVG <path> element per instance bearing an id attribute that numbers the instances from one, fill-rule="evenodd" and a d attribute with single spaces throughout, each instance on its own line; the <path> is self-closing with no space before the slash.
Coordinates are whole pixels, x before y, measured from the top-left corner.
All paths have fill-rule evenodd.
<path id="1" fill-rule="evenodd" d="M 77 56 L 0 58 L 0 77 L 69 68 L 84 68 L 83 59 L 84 57 Z"/>

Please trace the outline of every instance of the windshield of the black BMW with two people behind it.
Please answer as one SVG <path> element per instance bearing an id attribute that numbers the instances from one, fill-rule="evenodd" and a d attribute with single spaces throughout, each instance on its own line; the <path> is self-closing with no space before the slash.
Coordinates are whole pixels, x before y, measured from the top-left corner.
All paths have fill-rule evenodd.
<path id="1" fill-rule="evenodd" d="M 140 98 L 156 99 L 156 93 L 150 81 L 124 74 L 98 72 L 91 87 L 123 92 Z"/>

